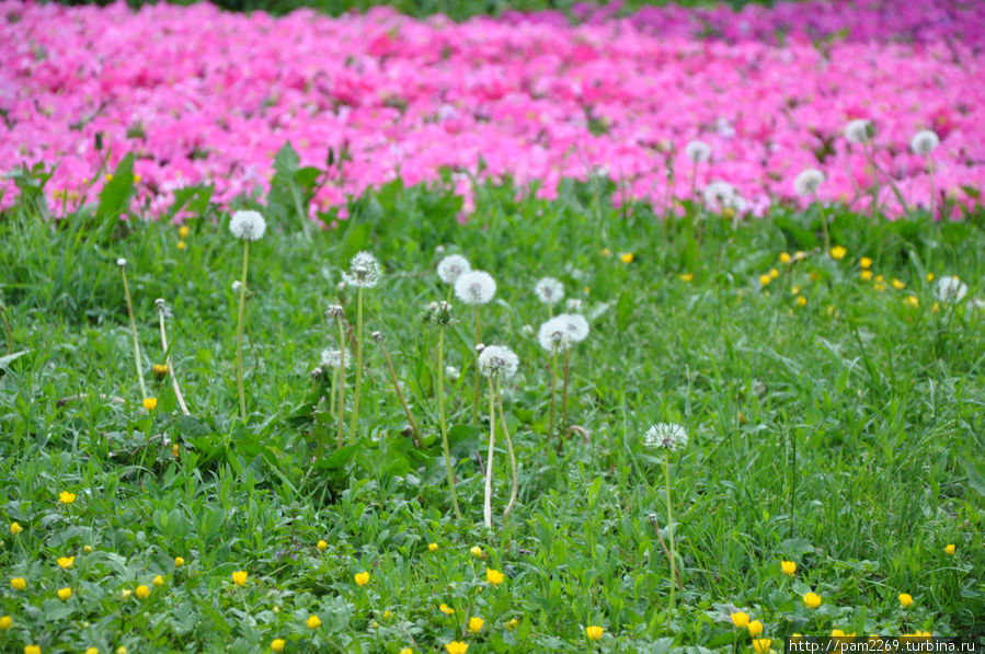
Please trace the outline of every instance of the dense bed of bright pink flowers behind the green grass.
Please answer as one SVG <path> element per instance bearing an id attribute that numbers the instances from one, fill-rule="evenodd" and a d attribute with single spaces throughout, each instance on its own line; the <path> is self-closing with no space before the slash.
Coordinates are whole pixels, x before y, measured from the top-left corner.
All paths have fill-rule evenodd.
<path id="1" fill-rule="evenodd" d="M 397 175 L 416 184 L 444 167 L 474 173 L 480 158 L 480 176 L 536 184 L 542 197 L 562 177 L 595 171 L 620 185 L 620 197 L 663 207 L 668 191 L 690 195 L 684 146 L 700 139 L 712 156 L 697 167 L 698 190 L 729 182 L 761 215 L 776 202 L 806 202 L 793 188 L 805 168 L 825 173 L 822 199 L 868 187 L 866 157 L 844 138 L 849 119 L 867 118 L 877 163 L 908 204 L 929 204 L 927 162 L 908 149 L 923 128 L 941 139 L 931 156 L 936 205 L 977 202 L 985 31 L 967 26 L 983 24 L 982 4 L 938 0 L 920 3 L 923 18 L 901 9 L 902 19 L 878 21 L 901 4 L 836 0 L 813 16 L 823 28 L 803 9 L 816 4 L 740 18 L 726 9 L 595 12 L 572 26 L 550 13 L 456 24 L 382 9 L 274 19 L 208 4 L 135 13 L 0 2 L 0 165 L 57 163 L 47 191 L 60 206 L 62 192 L 96 171 L 102 134 L 114 163 L 136 154 L 138 195 L 160 213 L 190 184 L 213 183 L 221 204 L 264 193 L 287 141 L 302 165 L 319 168 L 345 144 L 352 160 L 341 174 L 333 169 L 312 215 Z M 856 18 L 863 38 L 809 38 Z M 783 45 L 770 36 L 778 26 Z M 468 210 L 469 176 L 455 180 Z M 9 205 L 16 192 L 2 183 Z M 900 213 L 887 188 L 882 200 Z"/>

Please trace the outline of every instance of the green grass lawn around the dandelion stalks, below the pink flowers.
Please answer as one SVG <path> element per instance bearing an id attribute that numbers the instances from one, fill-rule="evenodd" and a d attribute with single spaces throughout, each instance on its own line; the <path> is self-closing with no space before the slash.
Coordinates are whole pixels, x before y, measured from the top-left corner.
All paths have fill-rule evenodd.
<path id="1" fill-rule="evenodd" d="M 273 218 L 250 248 L 245 426 L 230 288 L 242 248 L 227 215 L 206 208 L 184 251 L 174 226 L 119 221 L 112 197 L 59 222 L 26 202 L 0 216 L 5 317 L 24 352 L 0 359 L 0 513 L 23 527 L 13 536 L 4 524 L 0 536 L 0 616 L 13 621 L 0 650 L 257 652 L 283 638 L 286 652 L 444 652 L 454 639 L 470 653 L 749 651 L 734 607 L 764 622 L 775 649 L 783 635 L 833 628 L 981 634 L 985 345 L 972 300 L 983 216 L 872 222 L 839 209 L 832 234 L 848 253 L 834 261 L 812 251 L 813 209 L 779 208 L 735 232 L 710 218 L 698 246 L 691 219 L 614 209 L 591 190 L 565 183 L 548 203 L 482 188 L 465 226 L 445 190 L 393 184 L 358 200 L 345 229 L 309 237 L 297 218 Z M 422 320 L 446 294 L 438 245 L 496 278 L 484 340 L 520 357 L 505 398 L 519 502 L 494 532 L 481 527 L 476 455 L 488 426 L 471 424 L 471 323 L 458 305 L 446 349 L 461 375 L 447 398 L 466 518 L 451 517 L 437 332 Z M 341 299 L 355 321 L 355 296 L 336 284 L 362 249 L 385 266 L 366 292 L 366 332 L 382 332 L 424 436 L 408 435 L 368 341 L 359 437 L 336 452 L 329 386 L 310 372 L 337 334 L 323 310 Z M 795 250 L 809 254 L 778 263 Z M 150 415 L 118 256 L 158 398 Z M 886 288 L 859 278 L 861 256 Z M 771 267 L 779 276 L 760 290 Z M 931 272 L 960 274 L 969 297 L 934 311 Z M 573 434 L 560 450 L 546 438 L 549 357 L 523 334 L 547 318 L 531 291 L 545 275 L 586 302 L 592 325 L 572 371 L 572 420 L 588 437 Z M 910 294 L 919 307 L 904 301 Z M 150 381 L 150 364 L 163 362 L 158 297 L 173 311 L 171 356 L 191 416 L 167 381 Z M 663 421 L 690 435 L 671 459 L 684 584 L 674 616 L 655 531 L 666 527 L 662 457 L 641 441 Z M 497 458 L 496 517 L 508 495 L 505 451 Z M 59 504 L 60 491 L 78 497 Z M 67 555 L 75 565 L 62 571 L 56 559 Z M 175 557 L 186 563 L 175 567 Z M 781 560 L 797 562 L 795 577 Z M 486 565 L 505 573 L 502 585 L 484 583 Z M 245 586 L 231 581 L 239 570 Z M 360 571 L 370 572 L 363 587 Z M 139 584 L 147 599 L 123 597 Z M 68 601 L 61 587 L 72 588 Z M 809 589 L 821 608 L 804 606 Z M 900 593 L 914 607 L 904 611 Z M 310 615 L 320 628 L 306 627 Z M 470 616 L 485 620 L 478 635 L 465 633 Z M 605 628 L 598 643 L 586 626 Z"/>

